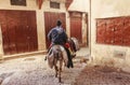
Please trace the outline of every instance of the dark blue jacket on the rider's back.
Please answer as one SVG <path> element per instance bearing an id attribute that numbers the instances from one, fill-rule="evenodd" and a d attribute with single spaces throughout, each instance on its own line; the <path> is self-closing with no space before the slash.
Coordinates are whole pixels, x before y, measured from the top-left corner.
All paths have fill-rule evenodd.
<path id="1" fill-rule="evenodd" d="M 49 32 L 48 39 L 52 42 L 52 44 L 63 45 L 67 41 L 67 34 L 62 27 L 56 26 Z"/>

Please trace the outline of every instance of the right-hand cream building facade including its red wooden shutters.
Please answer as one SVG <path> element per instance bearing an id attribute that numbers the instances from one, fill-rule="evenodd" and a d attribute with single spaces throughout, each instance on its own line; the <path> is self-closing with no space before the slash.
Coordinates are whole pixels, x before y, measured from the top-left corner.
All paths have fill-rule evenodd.
<path id="1" fill-rule="evenodd" d="M 130 1 L 90 1 L 93 63 L 130 72 Z"/>

